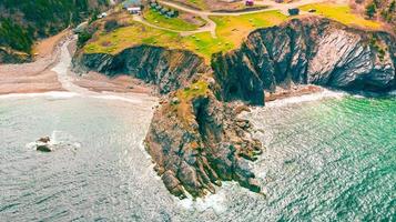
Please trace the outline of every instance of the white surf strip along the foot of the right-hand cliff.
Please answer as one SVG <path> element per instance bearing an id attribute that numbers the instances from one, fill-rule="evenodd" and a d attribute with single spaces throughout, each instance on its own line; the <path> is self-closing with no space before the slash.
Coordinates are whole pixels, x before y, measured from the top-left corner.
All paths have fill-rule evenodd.
<path id="1" fill-rule="evenodd" d="M 311 101 L 317 101 L 317 100 L 323 100 L 323 99 L 327 99 L 327 98 L 341 99 L 341 98 L 345 97 L 346 94 L 347 93 L 345 93 L 345 92 L 323 90 L 322 92 L 316 92 L 316 93 L 312 93 L 312 94 L 303 94 L 303 95 L 298 95 L 298 97 L 291 97 L 291 98 L 271 101 L 271 102 L 265 103 L 265 107 L 270 107 L 270 108 L 284 107 L 287 104 L 311 102 Z"/>

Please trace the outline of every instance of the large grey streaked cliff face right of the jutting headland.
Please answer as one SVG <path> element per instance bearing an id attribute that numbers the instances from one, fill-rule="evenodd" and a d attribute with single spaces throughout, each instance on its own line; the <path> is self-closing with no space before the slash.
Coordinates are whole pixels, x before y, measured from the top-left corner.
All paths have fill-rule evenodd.
<path id="1" fill-rule="evenodd" d="M 344 90 L 395 89 L 396 41 L 318 18 L 252 32 L 241 49 L 213 57 L 226 100 L 263 104 L 263 89 L 311 83 Z"/>

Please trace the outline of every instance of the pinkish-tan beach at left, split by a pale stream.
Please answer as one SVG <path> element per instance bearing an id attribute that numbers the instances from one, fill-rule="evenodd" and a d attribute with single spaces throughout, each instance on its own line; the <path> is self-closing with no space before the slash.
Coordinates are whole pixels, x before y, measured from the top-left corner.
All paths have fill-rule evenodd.
<path id="1" fill-rule="evenodd" d="M 68 91 L 63 89 L 58 73 L 52 69 L 60 62 L 60 48 L 70 37 L 70 30 L 64 30 L 38 42 L 33 48 L 34 62 L 0 64 L 0 94 Z M 71 41 L 68 49 L 72 54 L 75 50 L 75 42 Z M 74 84 L 93 92 L 146 94 L 153 92 L 152 87 L 129 75 L 109 78 L 95 72 L 77 75 L 70 70 L 68 74 Z"/>

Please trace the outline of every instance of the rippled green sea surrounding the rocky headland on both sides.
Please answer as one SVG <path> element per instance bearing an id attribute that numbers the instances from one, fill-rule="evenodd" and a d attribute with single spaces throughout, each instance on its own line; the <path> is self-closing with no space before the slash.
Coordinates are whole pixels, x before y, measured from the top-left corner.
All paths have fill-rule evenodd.
<path id="1" fill-rule="evenodd" d="M 0 99 L 0 221 L 396 220 L 396 100 L 346 97 L 268 105 L 252 164 L 267 198 L 234 183 L 204 200 L 171 196 L 142 140 L 153 103 Z M 40 153 L 42 135 L 80 144 Z M 393 218 L 392 218 L 393 216 Z"/>

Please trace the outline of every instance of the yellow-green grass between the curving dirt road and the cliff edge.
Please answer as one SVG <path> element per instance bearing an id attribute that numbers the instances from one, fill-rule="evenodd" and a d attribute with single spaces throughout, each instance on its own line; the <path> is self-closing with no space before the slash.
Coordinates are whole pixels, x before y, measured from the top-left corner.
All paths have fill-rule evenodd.
<path id="1" fill-rule="evenodd" d="M 110 33 L 98 31 L 84 47 L 84 51 L 87 53 L 116 54 L 133 46 L 149 44 L 191 50 L 203 57 L 205 62 L 209 63 L 213 53 L 225 52 L 240 47 L 251 31 L 278 24 L 287 18 L 277 11 L 268 11 L 240 17 L 212 17 L 211 19 L 217 24 L 217 38 L 213 38 L 210 32 L 181 37 L 177 32 L 146 27 L 131 18 L 128 27 Z M 160 22 L 156 24 L 159 26 Z"/>

